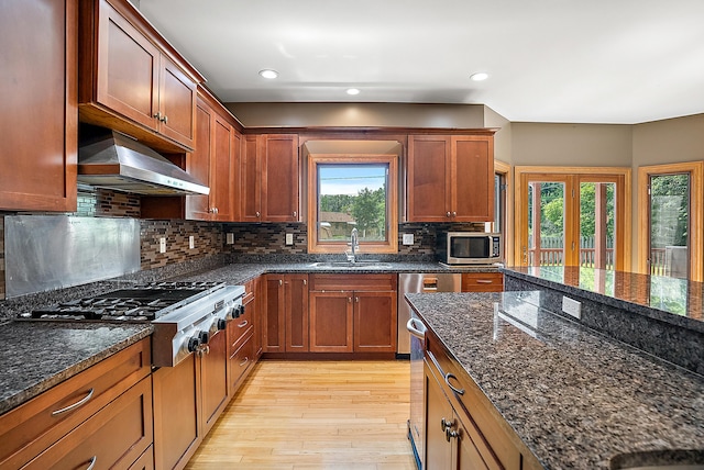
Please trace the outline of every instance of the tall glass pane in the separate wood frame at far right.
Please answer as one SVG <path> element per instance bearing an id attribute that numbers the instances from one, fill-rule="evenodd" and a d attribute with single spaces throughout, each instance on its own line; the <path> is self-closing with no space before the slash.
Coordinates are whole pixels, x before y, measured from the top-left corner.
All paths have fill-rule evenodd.
<path id="1" fill-rule="evenodd" d="M 689 273 L 690 176 L 650 177 L 650 273 Z"/>

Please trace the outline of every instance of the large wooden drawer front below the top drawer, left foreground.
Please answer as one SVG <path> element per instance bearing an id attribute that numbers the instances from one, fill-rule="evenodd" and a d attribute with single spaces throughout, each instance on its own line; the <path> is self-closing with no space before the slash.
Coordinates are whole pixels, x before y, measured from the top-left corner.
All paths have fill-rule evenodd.
<path id="1" fill-rule="evenodd" d="M 146 377 L 68 433 L 23 470 L 128 468 L 152 445 L 152 378 Z"/>

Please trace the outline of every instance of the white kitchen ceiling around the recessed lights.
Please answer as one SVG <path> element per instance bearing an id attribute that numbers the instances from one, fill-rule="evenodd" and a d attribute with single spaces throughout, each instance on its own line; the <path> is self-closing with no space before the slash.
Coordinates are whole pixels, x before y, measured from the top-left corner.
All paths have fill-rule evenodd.
<path id="1" fill-rule="evenodd" d="M 704 112 L 704 0 L 139 4 L 224 102 L 480 103 L 514 122 Z"/>

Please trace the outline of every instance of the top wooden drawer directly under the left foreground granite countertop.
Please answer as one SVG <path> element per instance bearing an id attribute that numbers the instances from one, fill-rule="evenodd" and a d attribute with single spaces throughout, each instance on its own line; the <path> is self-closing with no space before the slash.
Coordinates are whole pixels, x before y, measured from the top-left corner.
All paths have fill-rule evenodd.
<path id="1" fill-rule="evenodd" d="M 150 339 L 98 362 L 0 416 L 0 469 L 16 469 L 151 371 Z"/>

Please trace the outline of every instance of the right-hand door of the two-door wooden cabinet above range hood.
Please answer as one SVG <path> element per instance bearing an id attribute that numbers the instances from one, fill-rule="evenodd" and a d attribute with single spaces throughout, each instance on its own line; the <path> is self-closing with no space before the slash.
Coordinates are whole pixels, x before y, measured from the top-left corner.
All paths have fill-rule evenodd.
<path id="1" fill-rule="evenodd" d="M 158 132 L 186 147 L 194 146 L 196 83 L 166 56 L 160 58 Z"/>

